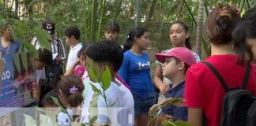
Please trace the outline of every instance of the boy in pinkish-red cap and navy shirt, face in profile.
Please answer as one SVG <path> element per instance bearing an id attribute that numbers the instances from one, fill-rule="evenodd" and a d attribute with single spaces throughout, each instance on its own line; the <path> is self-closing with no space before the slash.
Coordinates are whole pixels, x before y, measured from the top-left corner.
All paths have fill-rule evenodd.
<path id="1" fill-rule="evenodd" d="M 162 65 L 163 76 L 171 80 L 166 98 L 183 98 L 186 70 L 196 63 L 194 54 L 186 47 L 175 47 L 165 54 L 156 54 L 157 61 Z M 175 117 L 175 120 L 187 120 L 187 108 L 167 106 L 162 113 Z"/>

